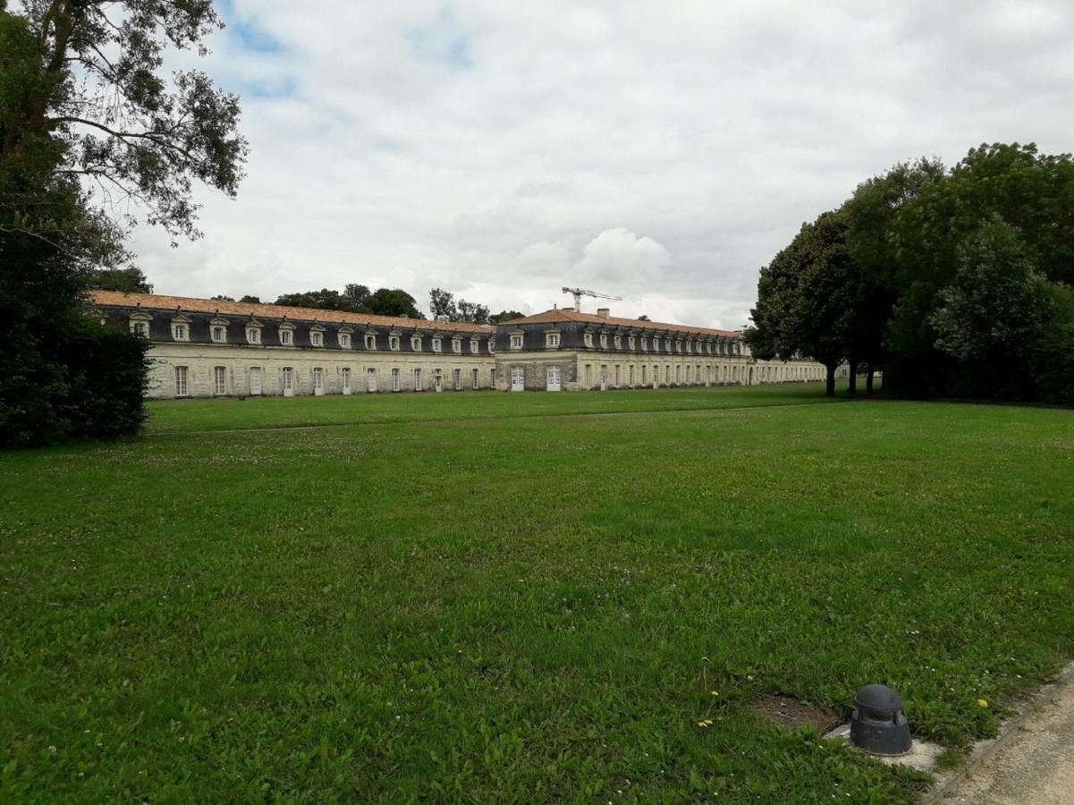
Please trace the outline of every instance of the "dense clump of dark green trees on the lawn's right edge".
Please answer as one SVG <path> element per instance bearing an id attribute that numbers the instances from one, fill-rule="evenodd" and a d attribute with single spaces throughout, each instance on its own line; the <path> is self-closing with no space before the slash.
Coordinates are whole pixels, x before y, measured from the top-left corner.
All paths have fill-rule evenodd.
<path id="1" fill-rule="evenodd" d="M 760 271 L 758 358 L 911 398 L 1074 402 L 1074 161 L 1033 144 L 894 166 Z"/>

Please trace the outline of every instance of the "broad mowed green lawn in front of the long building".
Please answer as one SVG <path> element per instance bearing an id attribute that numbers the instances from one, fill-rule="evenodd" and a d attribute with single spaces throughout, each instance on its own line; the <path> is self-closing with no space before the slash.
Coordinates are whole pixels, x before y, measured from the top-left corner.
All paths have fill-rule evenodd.
<path id="1" fill-rule="evenodd" d="M 909 801 L 749 702 L 958 749 L 1074 655 L 1074 412 L 638 393 L 0 456 L 0 800 Z"/>

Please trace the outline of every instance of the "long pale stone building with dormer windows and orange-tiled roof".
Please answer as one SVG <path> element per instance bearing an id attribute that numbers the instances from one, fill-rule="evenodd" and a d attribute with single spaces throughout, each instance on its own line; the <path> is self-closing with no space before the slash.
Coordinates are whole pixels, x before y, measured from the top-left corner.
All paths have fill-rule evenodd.
<path id="1" fill-rule="evenodd" d="M 553 308 L 496 327 L 93 291 L 102 322 L 151 344 L 154 398 L 584 390 L 823 379 L 757 361 L 741 333 Z"/>

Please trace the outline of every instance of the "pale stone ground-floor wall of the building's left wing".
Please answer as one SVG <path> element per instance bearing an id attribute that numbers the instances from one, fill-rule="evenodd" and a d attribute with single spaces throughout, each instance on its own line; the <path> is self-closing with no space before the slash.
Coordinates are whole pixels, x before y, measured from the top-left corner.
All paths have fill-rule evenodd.
<path id="1" fill-rule="evenodd" d="M 415 390 L 415 369 L 421 370 L 421 390 L 435 390 L 439 371 L 441 390 L 453 391 L 459 370 L 462 390 L 473 388 L 473 370 L 478 370 L 480 389 L 489 389 L 495 359 L 492 355 L 455 353 L 340 351 L 302 347 L 258 347 L 229 344 L 159 344 L 149 350 L 153 369 L 148 396 L 174 398 L 176 368 L 187 369 L 185 397 L 250 394 L 251 370 L 261 370 L 261 394 L 282 394 L 282 370 L 292 370 L 294 394 L 314 393 L 314 370 L 322 370 L 324 394 L 344 393 L 343 370 L 350 370 L 350 393 L 367 391 L 368 370 L 374 370 L 377 392 L 392 391 L 392 370 L 400 371 L 400 391 Z M 215 370 L 224 370 L 224 390 L 216 389 Z"/>

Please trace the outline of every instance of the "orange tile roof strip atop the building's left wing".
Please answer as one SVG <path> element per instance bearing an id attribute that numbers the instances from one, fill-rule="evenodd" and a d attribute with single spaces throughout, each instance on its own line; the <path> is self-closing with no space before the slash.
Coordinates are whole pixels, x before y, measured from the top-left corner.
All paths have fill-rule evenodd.
<path id="1" fill-rule="evenodd" d="M 488 333 L 491 327 L 470 325 L 465 321 L 433 321 L 430 319 L 406 318 L 403 316 L 376 316 L 366 313 L 344 311 L 322 311 L 316 307 L 288 307 L 275 304 L 253 304 L 250 302 L 228 302 L 220 299 L 194 299 L 192 297 L 165 297 L 158 293 L 125 293 L 113 290 L 89 292 L 93 304 L 113 307 L 140 306 L 151 311 L 174 311 L 188 313 L 217 313 L 221 316 L 252 316 L 255 318 L 288 318 L 305 321 L 337 321 L 344 325 L 373 325 L 375 327 L 417 328 L 451 332 Z"/>

